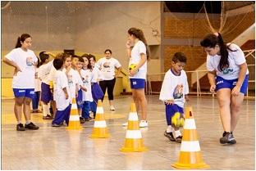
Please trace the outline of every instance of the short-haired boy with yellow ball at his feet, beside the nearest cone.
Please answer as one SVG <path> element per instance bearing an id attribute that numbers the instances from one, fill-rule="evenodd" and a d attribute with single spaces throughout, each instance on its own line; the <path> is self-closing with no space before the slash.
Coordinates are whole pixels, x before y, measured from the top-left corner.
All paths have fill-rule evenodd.
<path id="1" fill-rule="evenodd" d="M 189 86 L 187 76 L 183 70 L 186 63 L 186 57 L 181 52 L 176 52 L 172 57 L 171 69 L 167 71 L 162 82 L 162 88 L 159 99 L 164 101 L 166 106 L 167 130 L 164 136 L 171 142 L 181 143 L 181 120 L 184 122 L 184 104 L 185 98 L 188 99 Z M 173 126 L 173 128 L 172 128 Z M 175 137 L 173 135 L 175 132 Z"/>

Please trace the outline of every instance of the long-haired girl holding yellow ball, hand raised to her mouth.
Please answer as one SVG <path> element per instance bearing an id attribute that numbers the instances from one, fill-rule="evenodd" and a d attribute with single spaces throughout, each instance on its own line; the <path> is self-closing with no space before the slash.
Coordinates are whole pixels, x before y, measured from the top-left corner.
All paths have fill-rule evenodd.
<path id="1" fill-rule="evenodd" d="M 149 49 L 141 29 L 130 28 L 128 30 L 128 41 L 126 43 L 126 47 L 128 56 L 130 57 L 129 77 L 132 97 L 135 101 L 137 110 L 139 110 L 139 108 L 141 109 L 139 127 L 148 127 L 146 111 L 147 100 L 144 88 L 147 75 Z"/>

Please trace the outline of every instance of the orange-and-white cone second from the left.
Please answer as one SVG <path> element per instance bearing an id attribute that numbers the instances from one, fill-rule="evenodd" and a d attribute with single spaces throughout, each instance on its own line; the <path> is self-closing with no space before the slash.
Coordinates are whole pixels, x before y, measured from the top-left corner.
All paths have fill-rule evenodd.
<path id="1" fill-rule="evenodd" d="M 104 117 L 103 102 L 101 100 L 98 100 L 96 116 L 94 120 L 94 129 L 90 137 L 92 138 L 110 137 L 107 130 L 106 120 Z"/>

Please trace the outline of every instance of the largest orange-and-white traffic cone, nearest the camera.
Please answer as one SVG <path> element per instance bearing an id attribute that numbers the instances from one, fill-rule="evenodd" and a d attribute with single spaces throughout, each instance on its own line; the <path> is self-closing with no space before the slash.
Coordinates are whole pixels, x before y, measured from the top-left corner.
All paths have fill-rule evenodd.
<path id="1" fill-rule="evenodd" d="M 204 169 L 208 164 L 203 163 L 197 135 L 192 107 L 185 107 L 185 125 L 181 142 L 180 158 L 176 164 L 171 164 L 176 169 Z"/>

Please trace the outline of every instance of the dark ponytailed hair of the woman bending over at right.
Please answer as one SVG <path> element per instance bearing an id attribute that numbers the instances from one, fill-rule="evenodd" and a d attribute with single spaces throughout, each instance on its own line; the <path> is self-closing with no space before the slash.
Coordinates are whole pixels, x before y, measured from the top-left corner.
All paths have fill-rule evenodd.
<path id="1" fill-rule="evenodd" d="M 222 34 L 207 34 L 203 40 L 200 42 L 202 47 L 215 47 L 218 45 L 220 47 L 221 60 L 218 65 L 218 70 L 223 71 L 224 69 L 229 67 L 228 61 L 228 50 L 231 52 L 235 52 L 230 48 L 230 45 L 227 46 L 222 38 Z"/>

